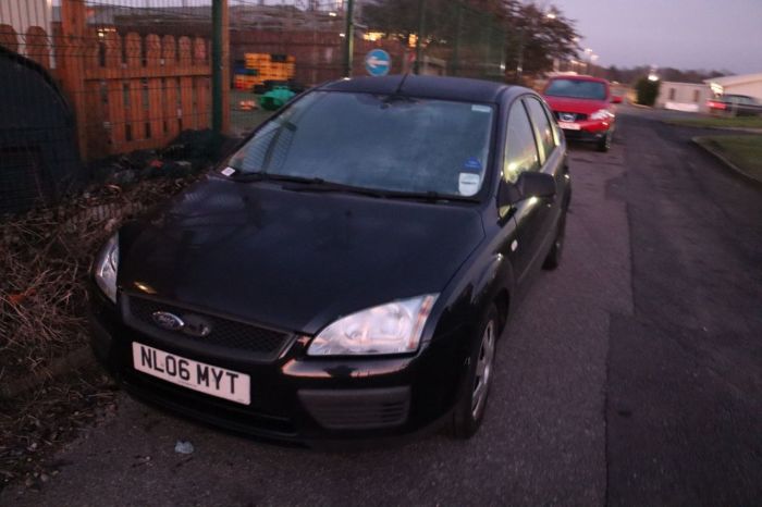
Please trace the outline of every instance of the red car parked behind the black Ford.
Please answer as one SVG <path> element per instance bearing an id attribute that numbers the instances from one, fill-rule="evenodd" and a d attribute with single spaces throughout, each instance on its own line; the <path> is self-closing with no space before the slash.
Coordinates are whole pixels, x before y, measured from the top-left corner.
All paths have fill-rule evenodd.
<path id="1" fill-rule="evenodd" d="M 609 151 L 616 115 L 609 82 L 592 76 L 555 76 L 542 92 L 567 139 L 595 143 Z"/>

